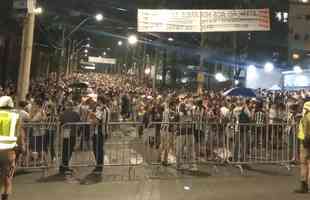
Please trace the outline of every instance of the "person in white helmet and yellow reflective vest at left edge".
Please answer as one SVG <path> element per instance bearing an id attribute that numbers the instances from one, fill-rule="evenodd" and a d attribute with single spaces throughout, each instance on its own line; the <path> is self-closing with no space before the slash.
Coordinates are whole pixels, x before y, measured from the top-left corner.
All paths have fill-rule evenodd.
<path id="1" fill-rule="evenodd" d="M 23 133 L 19 114 L 14 112 L 11 97 L 0 97 L 0 184 L 2 200 L 7 200 L 12 192 L 16 154 L 23 148 Z"/>

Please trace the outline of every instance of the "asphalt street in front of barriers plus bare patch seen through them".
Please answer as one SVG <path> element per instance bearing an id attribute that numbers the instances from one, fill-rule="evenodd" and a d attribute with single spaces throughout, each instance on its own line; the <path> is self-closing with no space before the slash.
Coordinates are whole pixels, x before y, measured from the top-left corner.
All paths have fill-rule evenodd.
<path id="1" fill-rule="evenodd" d="M 101 181 L 89 179 L 91 168 L 75 168 L 74 181 L 65 181 L 57 170 L 20 173 L 14 179 L 14 200 L 294 200 L 298 168 L 251 166 L 241 175 L 233 166 L 201 165 L 198 172 L 177 171 L 175 166 L 153 166 L 145 161 L 142 142 L 135 131 L 120 132 L 106 144 L 106 165 L 138 164 L 136 167 L 105 166 Z M 123 141 L 119 143 L 120 141 Z M 126 141 L 126 142 L 124 142 Z M 149 155 L 148 155 L 149 156 Z M 154 155 L 153 155 L 154 156 Z M 151 156 L 151 157 L 153 157 Z M 156 157 L 156 156 L 155 156 Z M 156 158 L 151 158 L 156 160 Z M 74 153 L 71 164 L 95 163 L 91 151 Z M 91 162 L 90 162 L 91 161 Z"/>

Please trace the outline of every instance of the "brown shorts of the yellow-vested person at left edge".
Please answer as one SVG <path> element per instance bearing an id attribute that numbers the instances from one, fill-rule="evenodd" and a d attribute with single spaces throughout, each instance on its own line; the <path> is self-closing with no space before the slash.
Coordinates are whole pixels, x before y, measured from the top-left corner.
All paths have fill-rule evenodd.
<path id="1" fill-rule="evenodd" d="M 0 151 L 0 174 L 1 178 L 11 178 L 15 171 L 16 153 L 14 150 Z"/>

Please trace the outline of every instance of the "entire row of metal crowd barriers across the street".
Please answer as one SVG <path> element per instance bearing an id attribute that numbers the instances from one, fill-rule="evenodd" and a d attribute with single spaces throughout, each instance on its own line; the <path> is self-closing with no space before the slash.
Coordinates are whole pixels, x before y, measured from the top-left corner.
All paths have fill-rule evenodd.
<path id="1" fill-rule="evenodd" d="M 296 125 L 207 122 L 25 123 L 19 169 L 175 165 L 289 165 Z"/>

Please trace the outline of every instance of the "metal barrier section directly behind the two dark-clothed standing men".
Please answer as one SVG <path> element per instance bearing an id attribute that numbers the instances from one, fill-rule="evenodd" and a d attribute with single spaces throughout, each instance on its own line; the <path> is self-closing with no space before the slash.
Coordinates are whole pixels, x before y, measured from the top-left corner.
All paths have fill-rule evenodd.
<path id="1" fill-rule="evenodd" d="M 61 127 L 62 167 L 127 167 L 144 163 L 138 128 L 142 124 L 109 122 L 68 123 Z M 117 128 L 116 128 L 117 127 Z"/>

